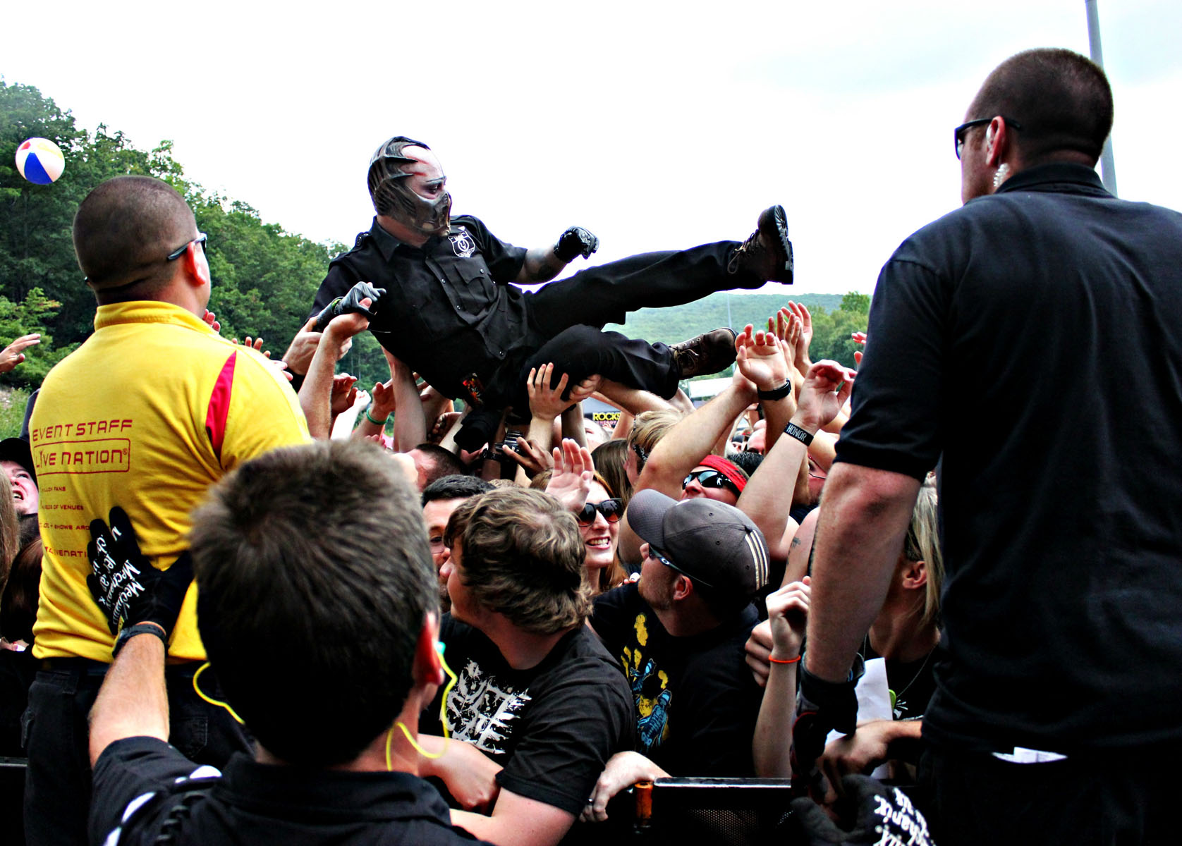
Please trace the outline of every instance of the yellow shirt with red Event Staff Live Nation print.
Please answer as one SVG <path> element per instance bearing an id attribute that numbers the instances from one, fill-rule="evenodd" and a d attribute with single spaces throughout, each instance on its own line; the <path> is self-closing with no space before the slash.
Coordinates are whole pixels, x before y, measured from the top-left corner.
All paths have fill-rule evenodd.
<path id="1" fill-rule="evenodd" d="M 310 438 L 296 392 L 261 354 L 178 306 L 136 301 L 99 306 L 95 334 L 45 377 L 30 440 L 45 544 L 33 655 L 110 662 L 115 638 L 86 587 L 90 521 L 122 506 L 167 568 L 210 484 Z M 195 586 L 168 653 L 204 660 Z"/>

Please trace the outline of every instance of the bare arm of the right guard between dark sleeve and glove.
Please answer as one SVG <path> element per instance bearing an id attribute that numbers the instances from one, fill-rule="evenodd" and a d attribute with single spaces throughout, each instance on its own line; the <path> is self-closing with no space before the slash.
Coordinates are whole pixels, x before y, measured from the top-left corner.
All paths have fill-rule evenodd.
<path id="1" fill-rule="evenodd" d="M 838 463 L 825 483 L 813 555 L 808 672 L 844 682 L 862 639 L 882 610 L 920 481 Z"/>

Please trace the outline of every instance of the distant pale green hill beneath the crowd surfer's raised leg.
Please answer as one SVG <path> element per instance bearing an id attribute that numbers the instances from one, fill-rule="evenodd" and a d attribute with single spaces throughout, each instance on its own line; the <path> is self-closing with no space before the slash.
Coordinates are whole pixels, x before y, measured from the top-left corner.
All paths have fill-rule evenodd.
<path id="1" fill-rule="evenodd" d="M 730 326 L 735 331 L 740 331 L 747 324 L 754 325 L 755 328 L 766 327 L 767 318 L 787 305 L 788 300 L 804 302 L 810 311 L 820 306 L 826 312 L 834 312 L 842 305 L 842 294 L 800 294 L 793 291 L 782 294 L 730 294 L 728 297 L 725 293 L 715 293 L 683 306 L 641 308 L 629 313 L 626 325 L 608 324 L 605 328 L 623 332 L 629 338 L 676 344 L 719 326 Z"/>

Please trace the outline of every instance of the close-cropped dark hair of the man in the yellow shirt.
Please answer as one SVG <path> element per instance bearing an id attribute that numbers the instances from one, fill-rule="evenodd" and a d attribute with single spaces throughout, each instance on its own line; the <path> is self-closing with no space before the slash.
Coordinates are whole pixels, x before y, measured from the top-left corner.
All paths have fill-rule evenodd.
<path id="1" fill-rule="evenodd" d="M 96 292 L 157 287 L 173 275 L 165 256 L 197 235 L 184 197 L 150 176 L 117 176 L 92 190 L 73 222 L 74 253 Z"/>

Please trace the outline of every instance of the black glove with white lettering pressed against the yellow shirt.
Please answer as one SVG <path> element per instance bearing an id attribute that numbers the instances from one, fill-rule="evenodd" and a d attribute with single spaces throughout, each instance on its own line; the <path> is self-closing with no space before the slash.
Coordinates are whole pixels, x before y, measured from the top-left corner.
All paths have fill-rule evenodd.
<path id="1" fill-rule="evenodd" d="M 86 558 L 91 570 L 86 586 L 106 614 L 111 634 L 122 626 L 155 623 L 167 639 L 193 581 L 189 552 L 184 551 L 167 571 L 156 570 L 139 552 L 126 512 L 116 506 L 110 528 L 102 520 L 90 521 Z"/>

